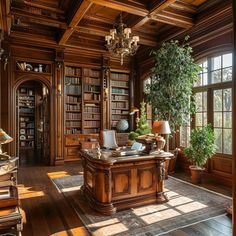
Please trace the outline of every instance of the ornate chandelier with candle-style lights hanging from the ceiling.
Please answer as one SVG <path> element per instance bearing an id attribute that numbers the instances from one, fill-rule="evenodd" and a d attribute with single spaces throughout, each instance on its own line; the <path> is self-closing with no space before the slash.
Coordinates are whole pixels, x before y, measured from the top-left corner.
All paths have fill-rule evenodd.
<path id="1" fill-rule="evenodd" d="M 110 29 L 110 34 L 105 36 L 107 41 L 106 47 L 109 52 L 120 56 L 120 64 L 123 65 L 124 56 L 133 56 L 139 45 L 139 36 L 131 36 L 131 29 L 126 28 L 122 22 L 122 14 L 120 14 L 120 22 L 115 23 L 113 29 Z"/>

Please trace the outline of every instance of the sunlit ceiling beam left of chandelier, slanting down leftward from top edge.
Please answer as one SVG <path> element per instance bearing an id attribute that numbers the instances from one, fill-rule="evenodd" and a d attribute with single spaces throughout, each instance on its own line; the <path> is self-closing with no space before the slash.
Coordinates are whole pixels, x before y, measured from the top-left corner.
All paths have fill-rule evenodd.
<path id="1" fill-rule="evenodd" d="M 69 27 L 64 31 L 62 36 L 59 39 L 59 45 L 64 45 L 66 41 L 69 39 L 69 37 L 74 32 L 74 27 L 78 25 L 78 23 L 81 21 L 85 13 L 89 10 L 89 8 L 92 6 L 92 2 L 89 0 L 83 0 L 80 6 L 78 7 L 76 13 L 71 18 Z"/>

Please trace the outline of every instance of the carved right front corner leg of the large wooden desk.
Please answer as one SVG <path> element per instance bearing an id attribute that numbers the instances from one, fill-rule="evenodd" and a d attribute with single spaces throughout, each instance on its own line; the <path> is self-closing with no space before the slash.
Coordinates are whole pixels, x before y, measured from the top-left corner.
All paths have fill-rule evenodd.
<path id="1" fill-rule="evenodd" d="M 165 180 L 165 160 L 157 161 L 157 203 L 164 203 L 168 201 L 164 193 L 164 180 Z"/>

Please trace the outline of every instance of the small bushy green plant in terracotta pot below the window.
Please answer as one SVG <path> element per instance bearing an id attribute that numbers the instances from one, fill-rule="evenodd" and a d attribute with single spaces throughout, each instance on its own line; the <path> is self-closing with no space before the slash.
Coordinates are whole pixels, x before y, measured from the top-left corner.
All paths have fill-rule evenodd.
<path id="1" fill-rule="evenodd" d="M 202 128 L 191 130 L 190 145 L 184 149 L 184 154 L 189 158 L 191 165 L 191 178 L 193 183 L 200 183 L 204 165 L 215 154 L 215 137 L 211 124 Z"/>

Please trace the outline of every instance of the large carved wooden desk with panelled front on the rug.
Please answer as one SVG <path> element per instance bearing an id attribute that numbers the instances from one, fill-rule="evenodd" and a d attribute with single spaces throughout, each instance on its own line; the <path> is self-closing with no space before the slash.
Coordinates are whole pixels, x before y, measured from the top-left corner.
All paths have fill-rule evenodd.
<path id="1" fill-rule="evenodd" d="M 173 154 L 112 157 L 110 151 L 81 151 L 84 168 L 83 194 L 98 212 L 111 215 L 116 210 L 168 201 L 163 192 L 164 162 Z"/>

